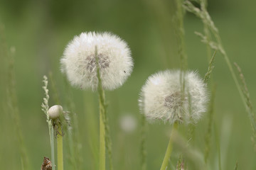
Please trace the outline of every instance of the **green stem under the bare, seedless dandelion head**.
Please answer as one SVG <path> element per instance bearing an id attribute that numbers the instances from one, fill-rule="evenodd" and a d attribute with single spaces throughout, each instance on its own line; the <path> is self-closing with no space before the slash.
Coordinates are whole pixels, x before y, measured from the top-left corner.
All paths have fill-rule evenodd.
<path id="1" fill-rule="evenodd" d="M 60 124 L 57 132 L 57 162 L 58 170 L 63 170 L 63 132 Z"/>

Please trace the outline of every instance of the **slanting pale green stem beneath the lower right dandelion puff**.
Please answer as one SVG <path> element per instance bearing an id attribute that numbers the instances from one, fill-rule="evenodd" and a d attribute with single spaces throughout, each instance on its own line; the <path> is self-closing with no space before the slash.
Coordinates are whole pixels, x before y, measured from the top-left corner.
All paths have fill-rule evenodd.
<path id="1" fill-rule="evenodd" d="M 168 166 L 169 159 L 171 157 L 171 151 L 173 149 L 173 132 L 174 132 L 174 130 L 177 130 L 177 128 L 178 128 L 178 123 L 174 123 L 174 127 L 171 130 L 171 137 L 170 137 L 170 140 L 169 140 L 169 144 L 168 144 L 168 147 L 166 149 L 166 154 L 164 156 L 164 161 L 161 165 L 160 170 L 166 170 L 166 167 Z"/>

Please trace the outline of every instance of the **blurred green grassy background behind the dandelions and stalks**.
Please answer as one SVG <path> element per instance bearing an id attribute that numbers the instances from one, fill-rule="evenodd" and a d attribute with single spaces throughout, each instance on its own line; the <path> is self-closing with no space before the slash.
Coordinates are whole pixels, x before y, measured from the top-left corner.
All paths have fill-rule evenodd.
<path id="1" fill-rule="evenodd" d="M 209 13 L 220 30 L 230 60 L 238 62 L 245 75 L 253 105 L 256 104 L 255 5 L 255 1 L 249 0 L 218 0 L 209 1 L 208 4 Z M 141 125 L 137 100 L 149 75 L 179 67 L 172 22 L 175 10 L 174 0 L 0 0 L 0 169 L 21 169 L 15 125 L 6 103 L 9 58 L 4 47 L 16 49 L 14 69 L 21 130 L 31 169 L 40 169 L 43 157 L 50 157 L 48 125 L 41 111 L 43 75 L 53 73 L 58 96 L 66 108 L 67 98 L 71 96 L 65 91 L 65 77 L 60 72 L 59 61 L 65 45 L 74 35 L 85 31 L 110 31 L 126 40 L 132 50 L 134 71 L 124 86 L 107 92 L 107 113 L 110 117 L 114 169 L 140 169 Z M 203 77 L 208 68 L 206 45 L 194 34 L 195 30 L 202 32 L 203 25 L 196 16 L 186 13 L 184 26 L 188 69 L 198 70 Z M 215 57 L 213 74 L 217 85 L 214 119 L 220 140 L 222 168 L 233 169 L 235 162 L 238 162 L 240 169 L 256 169 L 250 120 L 223 56 L 219 53 Z M 79 119 L 82 169 L 95 169 L 94 147 L 90 146 L 96 146 L 97 150 L 97 93 L 73 87 L 70 89 Z M 55 104 L 53 95 L 53 89 L 50 88 L 50 106 Z M 119 123 L 120 118 L 127 114 L 137 120 L 137 128 L 129 133 L 124 132 Z M 193 147 L 202 153 L 207 123 L 208 118 L 204 116 L 196 127 L 193 142 Z M 147 169 L 160 168 L 170 129 L 171 125 L 162 123 L 147 126 Z M 211 169 L 218 169 L 214 136 L 211 144 L 209 164 Z M 178 157 L 178 151 L 174 152 L 174 157 Z M 65 167 L 69 169 L 67 161 Z"/>

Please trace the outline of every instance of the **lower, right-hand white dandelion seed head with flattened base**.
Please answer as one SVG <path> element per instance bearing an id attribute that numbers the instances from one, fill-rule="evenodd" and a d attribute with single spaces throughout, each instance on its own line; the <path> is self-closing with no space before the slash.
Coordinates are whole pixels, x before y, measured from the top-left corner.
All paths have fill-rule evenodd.
<path id="1" fill-rule="evenodd" d="M 151 75 L 142 87 L 139 106 L 149 122 L 197 123 L 206 112 L 206 84 L 196 72 L 185 72 L 181 92 L 181 71 L 166 70 Z"/>

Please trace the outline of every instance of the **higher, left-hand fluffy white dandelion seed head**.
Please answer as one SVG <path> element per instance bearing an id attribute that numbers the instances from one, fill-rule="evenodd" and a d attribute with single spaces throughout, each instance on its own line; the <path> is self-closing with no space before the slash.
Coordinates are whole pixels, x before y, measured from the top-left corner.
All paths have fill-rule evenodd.
<path id="1" fill-rule="evenodd" d="M 65 48 L 60 63 L 73 86 L 95 91 L 97 61 L 103 89 L 117 89 L 132 73 L 133 61 L 127 43 L 110 33 L 89 32 L 75 36 Z"/>

